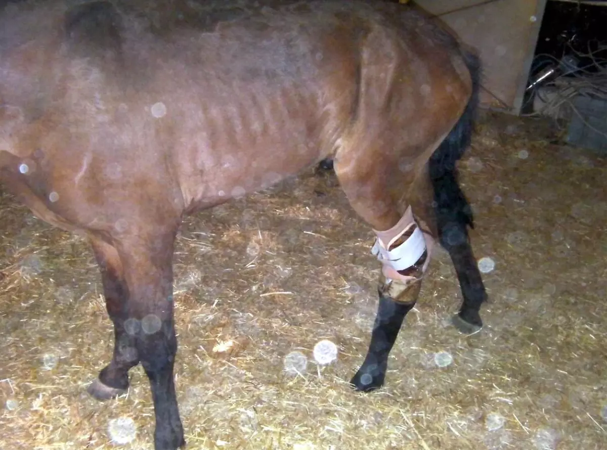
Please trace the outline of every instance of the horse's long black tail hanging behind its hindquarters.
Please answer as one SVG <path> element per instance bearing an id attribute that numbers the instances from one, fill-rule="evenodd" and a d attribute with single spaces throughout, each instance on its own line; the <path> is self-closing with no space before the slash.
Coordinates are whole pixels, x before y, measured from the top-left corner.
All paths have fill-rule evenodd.
<path id="1" fill-rule="evenodd" d="M 443 246 L 452 241 L 444 232 L 453 229 L 463 232 L 467 237 L 466 227 L 474 227 L 472 209 L 457 181 L 457 161 L 470 146 L 476 110 L 478 109 L 478 91 L 481 81 L 481 63 L 478 56 L 462 50 L 464 61 L 472 78 L 472 95 L 463 114 L 444 141 L 430 156 L 429 172 L 434 190 L 434 206 L 438 224 L 439 238 Z M 449 245 L 447 245 L 449 247 Z"/>

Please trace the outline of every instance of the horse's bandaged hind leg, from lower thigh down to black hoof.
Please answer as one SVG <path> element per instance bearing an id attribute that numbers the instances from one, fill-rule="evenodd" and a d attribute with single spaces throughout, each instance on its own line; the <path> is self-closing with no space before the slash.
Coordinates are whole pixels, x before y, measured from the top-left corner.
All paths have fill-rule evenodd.
<path id="1" fill-rule="evenodd" d="M 334 161 L 348 201 L 378 236 L 374 253 L 384 263 L 367 356 L 351 380 L 360 391 L 370 391 L 384 383 L 388 354 L 405 315 L 418 298 L 432 246 L 430 230 L 422 230 L 422 224 L 413 217 L 411 205 L 400 201 L 402 193 L 416 184 L 416 171 L 407 167 L 415 166 L 413 163 L 421 157 L 421 152 L 405 149 L 399 152 L 401 161 L 391 160 L 386 153 L 374 151 L 372 146 L 359 147 L 356 152 L 338 153 Z M 391 261 L 397 258 L 398 261 Z"/>

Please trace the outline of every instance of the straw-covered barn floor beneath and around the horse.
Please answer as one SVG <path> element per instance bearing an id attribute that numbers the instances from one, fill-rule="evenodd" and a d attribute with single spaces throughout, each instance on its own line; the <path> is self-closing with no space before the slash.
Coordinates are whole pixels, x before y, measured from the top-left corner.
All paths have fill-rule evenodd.
<path id="1" fill-rule="evenodd" d="M 484 113 L 461 181 L 476 257 L 495 262 L 485 327 L 449 326 L 461 295 L 439 250 L 372 394 L 347 381 L 379 266 L 332 173 L 188 218 L 175 257 L 188 448 L 605 449 L 607 161 L 555 136 L 541 120 Z M 140 367 L 118 400 L 86 394 L 112 343 L 86 242 L 7 194 L 0 230 L 0 449 L 152 449 Z M 339 354 L 320 367 L 323 339 Z M 309 359 L 294 376 L 290 352 Z"/>

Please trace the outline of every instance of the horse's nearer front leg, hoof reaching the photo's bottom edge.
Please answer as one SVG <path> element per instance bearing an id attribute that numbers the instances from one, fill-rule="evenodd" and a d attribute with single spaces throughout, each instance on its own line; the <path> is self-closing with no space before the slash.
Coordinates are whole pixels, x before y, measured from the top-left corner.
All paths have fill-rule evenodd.
<path id="1" fill-rule="evenodd" d="M 185 445 L 179 417 L 173 366 L 177 337 L 173 318 L 172 255 L 177 227 L 123 236 L 117 250 L 129 289 L 124 307 L 134 337 L 137 357 L 152 389 L 156 428 L 155 450 L 175 450 Z M 162 231 L 161 231 L 162 230 Z"/>

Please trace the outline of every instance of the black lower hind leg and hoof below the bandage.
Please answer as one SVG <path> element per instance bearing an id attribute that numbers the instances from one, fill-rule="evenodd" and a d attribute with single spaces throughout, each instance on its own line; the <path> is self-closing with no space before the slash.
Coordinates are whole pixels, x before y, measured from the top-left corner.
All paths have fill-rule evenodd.
<path id="1" fill-rule="evenodd" d="M 379 292 L 378 312 L 375 324 L 373 324 L 367 357 L 350 381 L 355 389 L 367 392 L 384 384 L 385 372 L 388 368 L 388 354 L 394 346 L 405 315 L 411 311 L 414 305 L 415 301 L 407 304 L 397 303 Z"/>

